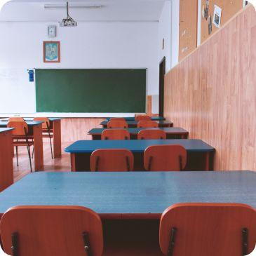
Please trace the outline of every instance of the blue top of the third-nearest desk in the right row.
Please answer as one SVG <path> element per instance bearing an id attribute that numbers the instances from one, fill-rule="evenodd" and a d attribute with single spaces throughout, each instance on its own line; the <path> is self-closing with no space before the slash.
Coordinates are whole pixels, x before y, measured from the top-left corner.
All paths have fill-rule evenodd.
<path id="1" fill-rule="evenodd" d="M 88 135 L 97 135 L 102 134 L 103 130 L 107 130 L 107 128 L 93 128 L 88 131 Z M 187 130 L 184 130 L 180 127 L 159 127 L 159 128 L 128 128 L 129 133 L 137 134 L 140 130 L 163 130 L 165 133 L 189 133 Z"/>

